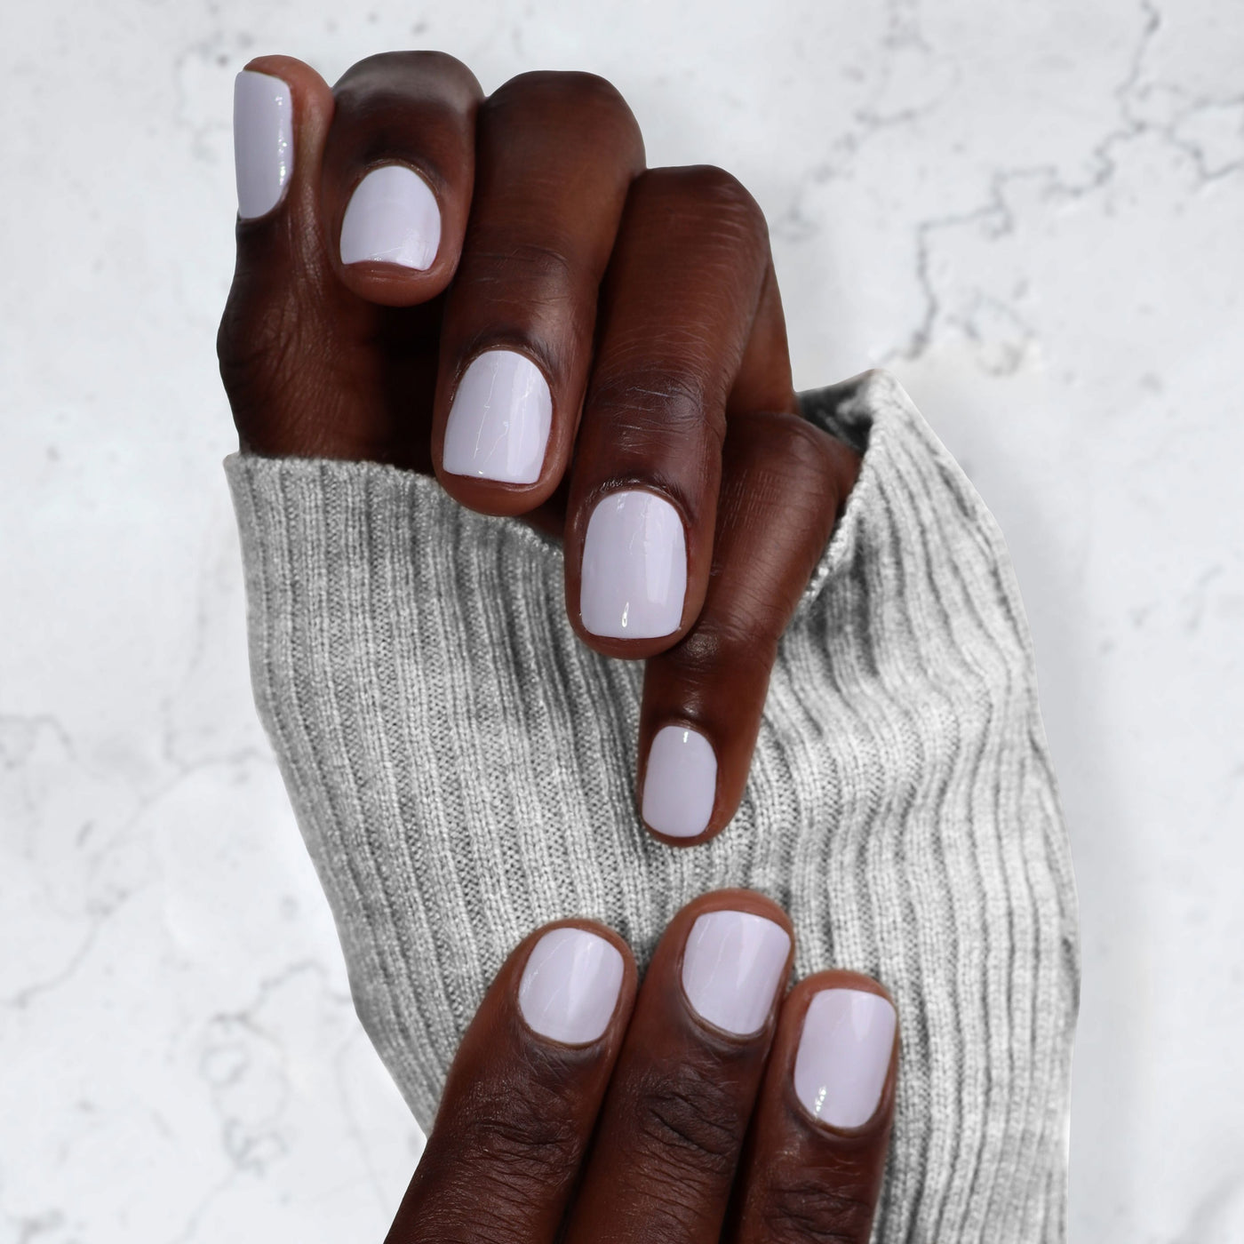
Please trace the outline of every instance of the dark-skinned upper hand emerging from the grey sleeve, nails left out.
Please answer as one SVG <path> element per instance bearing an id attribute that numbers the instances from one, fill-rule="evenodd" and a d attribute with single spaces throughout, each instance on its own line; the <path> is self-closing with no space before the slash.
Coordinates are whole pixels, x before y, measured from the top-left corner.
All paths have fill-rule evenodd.
<path id="1" fill-rule="evenodd" d="M 294 158 L 277 205 L 238 225 L 219 355 L 241 447 L 435 473 L 463 505 L 561 536 L 578 637 L 647 662 L 641 805 L 653 738 L 690 728 L 717 759 L 712 811 L 702 831 L 658 837 L 713 837 L 743 797 L 778 643 L 860 468 L 799 415 L 760 209 L 720 169 L 647 169 L 626 102 L 590 75 L 525 73 L 485 98 L 437 52 L 369 57 L 333 88 L 289 57 L 248 68 L 289 86 Z M 389 164 L 434 195 L 425 269 L 342 262 L 351 197 Z M 547 383 L 534 483 L 444 465 L 463 376 L 493 350 Z M 637 638 L 638 611 L 602 626 L 585 587 L 590 520 L 628 491 L 668 503 L 685 570 L 668 624 Z M 588 561 L 593 582 L 615 576 Z"/>

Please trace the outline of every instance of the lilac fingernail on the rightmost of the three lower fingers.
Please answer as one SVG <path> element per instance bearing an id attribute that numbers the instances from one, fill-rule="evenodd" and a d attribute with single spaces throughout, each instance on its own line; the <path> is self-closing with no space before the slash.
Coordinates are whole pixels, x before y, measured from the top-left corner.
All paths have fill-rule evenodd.
<path id="1" fill-rule="evenodd" d="M 826 989 L 807 1006 L 795 1055 L 795 1095 L 831 1127 L 877 1112 L 894 1050 L 894 1008 L 880 994 Z"/>

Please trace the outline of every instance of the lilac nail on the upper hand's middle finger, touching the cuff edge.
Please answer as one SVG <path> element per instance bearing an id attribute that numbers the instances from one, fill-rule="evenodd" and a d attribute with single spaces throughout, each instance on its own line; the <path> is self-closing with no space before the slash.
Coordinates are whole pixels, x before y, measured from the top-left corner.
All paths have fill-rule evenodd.
<path id="1" fill-rule="evenodd" d="M 552 398 L 540 368 L 489 350 L 466 368 L 445 423 L 442 462 L 453 475 L 534 484 L 544 466 Z"/>

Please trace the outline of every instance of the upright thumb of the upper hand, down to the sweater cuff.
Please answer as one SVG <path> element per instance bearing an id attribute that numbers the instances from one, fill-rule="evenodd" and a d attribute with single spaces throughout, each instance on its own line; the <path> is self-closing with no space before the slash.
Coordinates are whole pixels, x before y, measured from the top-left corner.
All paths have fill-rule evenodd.
<path id="1" fill-rule="evenodd" d="M 377 306 L 338 279 L 321 202 L 335 111 L 325 81 L 292 57 L 259 57 L 238 76 L 221 379 L 243 449 L 430 470 L 440 306 Z M 422 427 L 412 409 L 425 412 Z"/>

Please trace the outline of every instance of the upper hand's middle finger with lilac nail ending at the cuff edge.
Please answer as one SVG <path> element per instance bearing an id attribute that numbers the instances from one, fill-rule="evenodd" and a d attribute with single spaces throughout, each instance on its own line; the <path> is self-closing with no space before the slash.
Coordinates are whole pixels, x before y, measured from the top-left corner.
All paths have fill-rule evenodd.
<path id="1" fill-rule="evenodd" d="M 601 279 L 642 168 L 631 109 L 591 73 L 524 73 L 480 108 L 433 432 L 437 474 L 464 505 L 527 513 L 561 480 Z"/>

